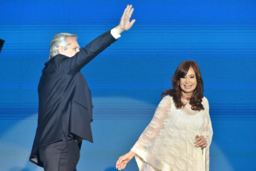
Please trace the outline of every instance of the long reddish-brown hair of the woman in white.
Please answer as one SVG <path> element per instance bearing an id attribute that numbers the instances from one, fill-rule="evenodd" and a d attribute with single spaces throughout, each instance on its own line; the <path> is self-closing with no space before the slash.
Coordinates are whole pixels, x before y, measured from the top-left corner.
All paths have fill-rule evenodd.
<path id="1" fill-rule="evenodd" d="M 173 97 L 173 101 L 175 103 L 176 108 L 181 109 L 182 106 L 185 106 L 182 103 L 182 88 L 180 88 L 179 86 L 179 80 L 182 77 L 185 77 L 186 74 L 188 74 L 189 68 L 193 68 L 193 71 L 195 71 L 197 82 L 196 88 L 194 89 L 193 94 L 189 99 L 189 103 L 192 106 L 191 109 L 200 111 L 204 109 L 204 107 L 202 106 L 202 92 L 204 91 L 204 87 L 202 84 L 201 72 L 199 70 L 198 65 L 194 61 L 187 60 L 182 62 L 178 66 L 172 79 L 173 89 L 164 91 L 161 94 L 161 98 L 164 97 L 164 95 L 170 95 L 171 97 Z"/>

